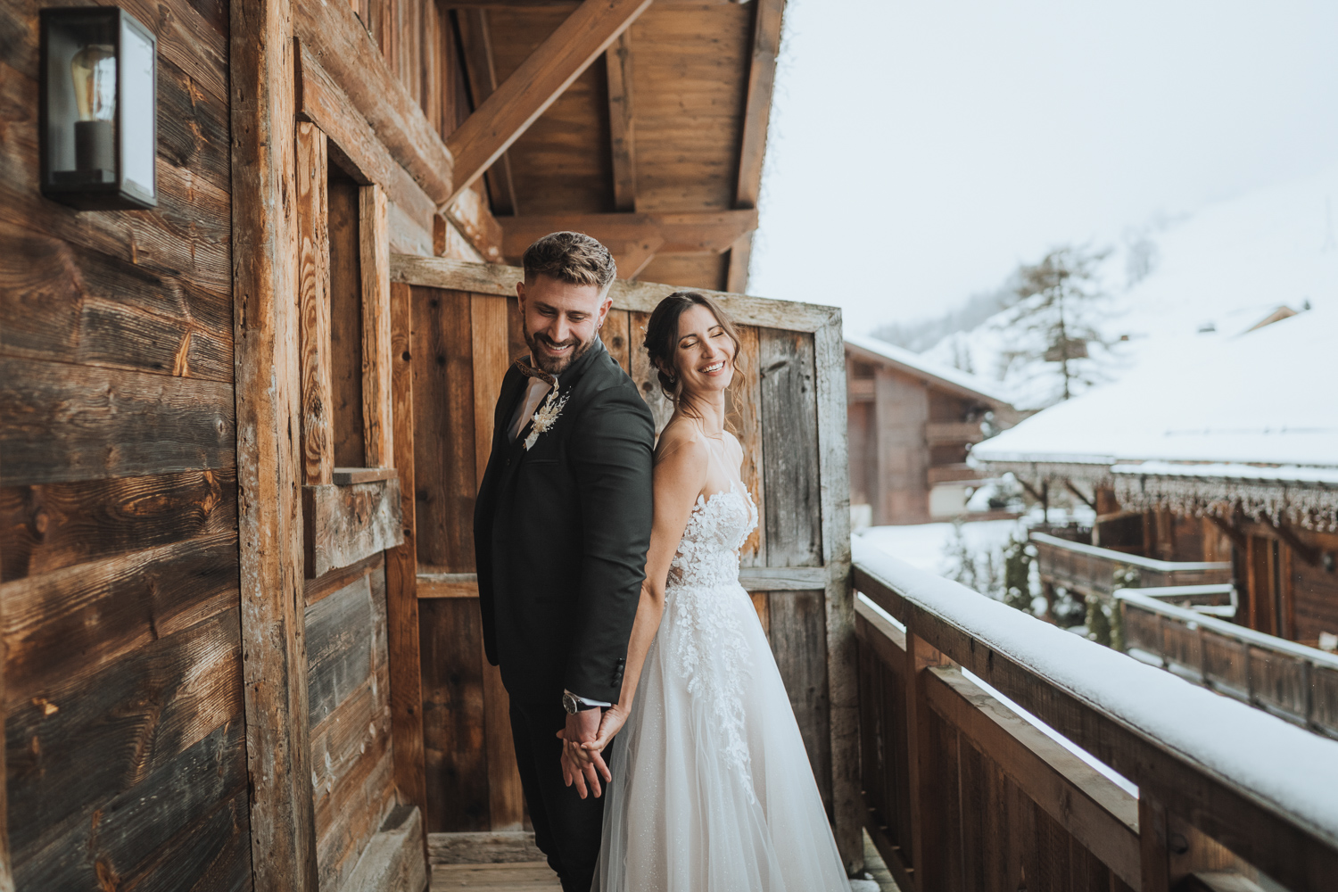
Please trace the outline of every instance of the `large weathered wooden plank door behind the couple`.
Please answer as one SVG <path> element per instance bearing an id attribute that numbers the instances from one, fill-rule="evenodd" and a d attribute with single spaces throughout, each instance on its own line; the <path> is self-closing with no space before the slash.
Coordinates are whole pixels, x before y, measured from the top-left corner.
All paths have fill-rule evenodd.
<path id="1" fill-rule="evenodd" d="M 392 258 L 412 318 L 413 496 L 429 832 L 524 824 L 506 691 L 483 658 L 474 576 L 474 496 L 510 360 L 524 354 L 520 270 Z M 657 432 L 670 408 L 641 348 L 650 310 L 674 289 L 617 282 L 603 326 Z M 846 368 L 834 308 L 714 294 L 743 326 L 743 384 L 731 416 L 761 523 L 741 580 L 767 629 L 823 801 L 850 857 L 859 845 L 852 663 Z M 396 433 L 399 436 L 399 433 Z M 850 852 L 847 852 L 850 849 Z"/>

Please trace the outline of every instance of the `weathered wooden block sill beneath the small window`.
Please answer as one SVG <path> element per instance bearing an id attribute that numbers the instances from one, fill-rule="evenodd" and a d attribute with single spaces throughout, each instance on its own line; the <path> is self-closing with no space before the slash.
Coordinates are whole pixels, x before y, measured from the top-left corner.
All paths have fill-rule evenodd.
<path id="1" fill-rule="evenodd" d="M 306 578 L 317 579 L 404 542 L 400 481 L 302 487 Z"/>

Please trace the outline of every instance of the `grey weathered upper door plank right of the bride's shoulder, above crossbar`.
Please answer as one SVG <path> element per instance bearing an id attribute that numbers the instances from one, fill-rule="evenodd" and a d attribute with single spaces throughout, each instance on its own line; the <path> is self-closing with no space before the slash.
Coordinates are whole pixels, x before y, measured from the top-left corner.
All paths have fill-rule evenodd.
<path id="1" fill-rule="evenodd" d="M 818 388 L 814 341 L 799 332 L 759 332 L 763 453 L 767 491 L 767 564 L 804 567 L 823 563 L 822 495 L 818 443 Z"/>

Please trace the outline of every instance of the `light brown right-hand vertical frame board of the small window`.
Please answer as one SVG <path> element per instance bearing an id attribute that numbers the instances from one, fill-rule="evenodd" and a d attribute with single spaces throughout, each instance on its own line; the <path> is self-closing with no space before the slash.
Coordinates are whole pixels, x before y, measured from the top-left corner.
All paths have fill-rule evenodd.
<path id="1" fill-rule="evenodd" d="M 359 198 L 359 243 L 363 274 L 363 448 L 368 467 L 395 464 L 391 409 L 391 243 L 385 190 L 363 186 Z"/>

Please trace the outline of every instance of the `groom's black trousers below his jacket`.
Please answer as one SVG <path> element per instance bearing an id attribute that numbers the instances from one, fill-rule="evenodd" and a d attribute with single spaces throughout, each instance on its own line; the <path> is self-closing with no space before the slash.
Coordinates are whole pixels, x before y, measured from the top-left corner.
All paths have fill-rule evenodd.
<path id="1" fill-rule="evenodd" d="M 562 782 L 562 741 L 557 734 L 566 723 L 561 703 L 511 701 L 511 738 L 534 844 L 549 857 L 563 892 L 590 892 L 603 832 L 603 797 L 581 798 L 575 786 Z M 609 750 L 603 756 L 607 760 Z"/>

